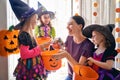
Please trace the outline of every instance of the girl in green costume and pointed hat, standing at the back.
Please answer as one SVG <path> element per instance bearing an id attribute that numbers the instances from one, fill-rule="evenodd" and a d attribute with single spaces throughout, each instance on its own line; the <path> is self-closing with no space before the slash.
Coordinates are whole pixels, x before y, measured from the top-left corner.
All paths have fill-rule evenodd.
<path id="1" fill-rule="evenodd" d="M 40 25 L 35 28 L 35 36 L 36 37 L 50 37 L 52 39 L 55 38 L 55 29 L 51 25 L 51 19 L 54 18 L 54 13 L 51 11 L 47 11 L 39 2 L 39 20 Z"/>

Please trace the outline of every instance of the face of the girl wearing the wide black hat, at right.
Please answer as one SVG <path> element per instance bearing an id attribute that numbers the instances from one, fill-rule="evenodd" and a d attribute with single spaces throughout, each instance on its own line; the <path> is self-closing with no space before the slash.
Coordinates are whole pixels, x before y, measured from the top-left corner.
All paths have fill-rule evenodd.
<path id="1" fill-rule="evenodd" d="M 97 32 L 97 31 L 93 31 L 92 32 L 92 41 L 95 45 L 100 45 L 101 43 L 105 42 L 105 37 Z"/>

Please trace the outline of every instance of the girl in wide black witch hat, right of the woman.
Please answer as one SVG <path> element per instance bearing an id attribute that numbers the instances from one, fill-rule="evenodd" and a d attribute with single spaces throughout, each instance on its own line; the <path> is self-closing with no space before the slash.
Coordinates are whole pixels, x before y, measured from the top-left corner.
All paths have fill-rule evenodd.
<path id="1" fill-rule="evenodd" d="M 112 35 L 112 24 L 89 25 L 83 30 L 83 34 L 91 38 L 97 46 L 93 56 L 88 58 L 88 64 L 99 74 L 99 80 L 114 80 L 118 71 L 113 68 L 114 59 L 117 55 L 115 39 Z"/>

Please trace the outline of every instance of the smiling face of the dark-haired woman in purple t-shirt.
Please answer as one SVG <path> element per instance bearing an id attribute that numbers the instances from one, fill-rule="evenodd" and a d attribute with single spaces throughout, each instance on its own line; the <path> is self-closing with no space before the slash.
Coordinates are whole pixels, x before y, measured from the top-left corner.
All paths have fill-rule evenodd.
<path id="1" fill-rule="evenodd" d="M 68 24 L 67 24 L 67 29 L 69 32 L 69 35 L 73 36 L 76 33 L 79 33 L 81 30 L 81 25 L 78 25 L 74 19 L 70 19 Z"/>

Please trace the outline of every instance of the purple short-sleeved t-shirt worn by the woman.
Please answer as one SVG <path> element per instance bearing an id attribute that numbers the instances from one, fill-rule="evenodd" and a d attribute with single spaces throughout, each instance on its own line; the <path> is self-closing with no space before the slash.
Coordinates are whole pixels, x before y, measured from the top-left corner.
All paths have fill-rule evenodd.
<path id="1" fill-rule="evenodd" d="M 74 42 L 72 36 L 67 37 L 65 46 L 67 48 L 67 51 L 77 62 L 79 62 L 81 56 L 84 56 L 86 58 L 90 57 L 94 50 L 94 44 L 90 40 L 85 39 L 83 42 L 77 44 Z M 69 64 L 68 64 L 68 74 L 70 76 L 73 75 L 73 70 Z"/>

